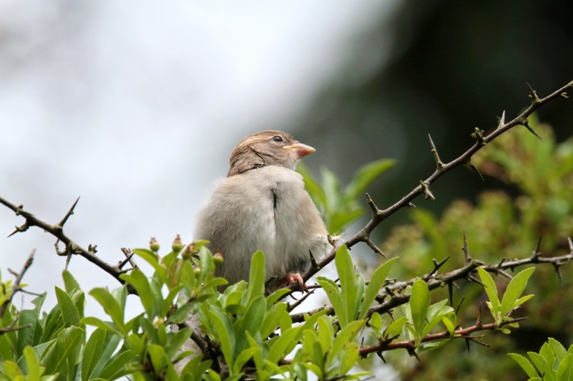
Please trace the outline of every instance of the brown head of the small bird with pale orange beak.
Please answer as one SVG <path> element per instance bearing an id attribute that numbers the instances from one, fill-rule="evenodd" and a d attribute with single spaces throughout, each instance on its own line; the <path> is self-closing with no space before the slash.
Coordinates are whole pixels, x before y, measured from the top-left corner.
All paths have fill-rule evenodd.
<path id="1" fill-rule="evenodd" d="M 299 143 L 282 131 L 255 133 L 238 142 L 231 152 L 227 177 L 268 165 L 280 165 L 294 170 L 300 158 L 314 151 L 314 148 Z"/>

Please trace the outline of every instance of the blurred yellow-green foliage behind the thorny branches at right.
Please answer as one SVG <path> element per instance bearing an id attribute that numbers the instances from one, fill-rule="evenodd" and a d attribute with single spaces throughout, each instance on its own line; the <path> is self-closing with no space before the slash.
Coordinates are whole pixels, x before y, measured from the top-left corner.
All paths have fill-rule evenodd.
<path id="1" fill-rule="evenodd" d="M 464 230 L 471 257 L 486 263 L 529 257 L 539 237 L 542 255 L 569 252 L 567 237 L 573 237 L 573 138 L 557 144 L 549 126 L 539 124 L 535 117 L 530 117 L 530 125 L 541 140 L 517 127 L 489 143 L 472 159 L 486 183 L 499 185 L 502 181 L 506 186 L 484 191 L 477 204 L 455 200 L 441 216 L 420 207 L 411 209 L 413 223 L 392 230 L 380 247 L 386 255 L 400 257 L 395 274 L 398 278 L 423 274 L 433 268 L 433 258 L 450 257 L 442 271 L 463 265 L 465 258 L 460 248 Z M 492 181 L 492 177 L 500 181 Z M 506 380 L 521 380 L 516 364 L 505 353 L 537 349 L 550 336 L 564 344 L 573 342 L 573 309 L 569 308 L 573 304 L 573 271 L 565 265 L 560 272 L 563 285 L 553 266 L 537 266 L 528 285 L 528 292 L 536 297 L 513 315 L 528 316 L 521 324 L 521 334 L 488 336 L 487 343 L 492 348 L 472 345 L 471 351 L 465 353 L 465 343 L 458 342 L 434 352 L 433 359 L 424 359 L 423 364 L 394 353 L 388 358 L 401 369 L 405 379 L 423 374 L 423 380 L 479 380 L 503 374 Z M 498 276 L 495 281 L 500 290 L 505 290 L 507 279 Z M 484 290 L 466 282 L 457 285 L 454 306 L 462 297 L 463 306 L 467 306 L 458 320 L 475 320 Z M 447 290 L 441 292 L 447 296 Z M 486 362 L 488 366 L 484 366 Z"/>

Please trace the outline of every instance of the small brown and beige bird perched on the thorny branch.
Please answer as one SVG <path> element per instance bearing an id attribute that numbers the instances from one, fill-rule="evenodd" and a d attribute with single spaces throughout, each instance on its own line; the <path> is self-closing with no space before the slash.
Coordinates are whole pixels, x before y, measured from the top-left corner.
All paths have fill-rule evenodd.
<path id="1" fill-rule="evenodd" d="M 217 276 L 229 284 L 249 279 L 253 253 L 263 251 L 267 280 L 274 287 L 298 285 L 300 273 L 330 246 L 317 207 L 295 172 L 298 160 L 315 149 L 288 133 L 267 130 L 245 137 L 229 158 L 229 173 L 199 211 L 194 237 L 223 256 Z"/>

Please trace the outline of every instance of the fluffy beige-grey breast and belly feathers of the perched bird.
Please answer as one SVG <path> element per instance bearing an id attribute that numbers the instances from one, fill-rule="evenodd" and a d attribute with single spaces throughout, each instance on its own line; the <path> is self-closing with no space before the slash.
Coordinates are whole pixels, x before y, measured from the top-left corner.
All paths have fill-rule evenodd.
<path id="1" fill-rule="evenodd" d="M 324 253 L 326 234 L 303 177 L 270 165 L 222 179 L 199 214 L 196 238 L 209 239 L 226 264 L 262 250 L 268 276 L 281 276 L 309 251 Z"/>

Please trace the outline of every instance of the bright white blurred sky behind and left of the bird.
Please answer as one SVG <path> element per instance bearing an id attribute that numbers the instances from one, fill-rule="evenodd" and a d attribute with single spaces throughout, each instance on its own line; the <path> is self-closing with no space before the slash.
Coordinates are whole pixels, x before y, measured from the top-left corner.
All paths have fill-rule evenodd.
<path id="1" fill-rule="evenodd" d="M 81 196 L 65 232 L 108 262 L 187 242 L 233 145 L 280 129 L 396 2 L 0 0 L 0 195 L 49 223 Z M 3 280 L 36 248 L 24 282 L 51 307 L 65 258 L 37 228 L 3 238 L 22 222 L 0 207 Z M 119 285 L 70 269 L 86 292 Z"/>

